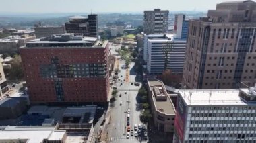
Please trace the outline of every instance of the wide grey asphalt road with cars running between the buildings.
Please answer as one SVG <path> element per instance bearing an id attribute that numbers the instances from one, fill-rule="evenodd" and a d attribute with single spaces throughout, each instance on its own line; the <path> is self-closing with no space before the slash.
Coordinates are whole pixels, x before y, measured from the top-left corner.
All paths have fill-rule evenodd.
<path id="1" fill-rule="evenodd" d="M 119 48 L 119 47 L 115 47 Z M 111 51 L 114 50 L 111 46 Z M 109 140 L 108 142 L 140 142 L 140 138 L 135 138 L 130 136 L 129 139 L 126 138 L 127 134 L 127 110 L 130 109 L 130 126 L 133 129 L 134 124 L 141 124 L 139 120 L 140 111 L 137 109 L 137 93 L 141 87 L 135 86 L 135 69 L 133 68 L 134 62 L 131 62 L 128 69 L 129 80 L 124 81 L 126 78 L 127 70 L 121 69 L 121 66 L 125 64 L 123 60 L 119 60 L 119 78 L 120 81 L 117 81 L 114 85 L 117 87 L 117 100 L 114 103 L 114 107 L 111 109 L 111 121 L 108 128 Z M 122 75 L 122 77 L 121 77 Z M 121 82 L 122 81 L 122 82 Z M 121 85 L 122 83 L 122 85 Z M 131 85 L 133 83 L 133 85 Z M 127 92 L 127 94 L 125 94 Z M 119 95 L 121 94 L 121 97 Z M 120 105 L 122 102 L 122 105 Z M 143 141 L 145 142 L 145 141 Z"/>

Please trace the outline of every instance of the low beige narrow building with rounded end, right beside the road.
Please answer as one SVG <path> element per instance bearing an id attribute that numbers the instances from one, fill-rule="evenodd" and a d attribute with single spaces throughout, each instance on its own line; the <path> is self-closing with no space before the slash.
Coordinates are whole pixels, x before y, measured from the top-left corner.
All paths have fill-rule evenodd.
<path id="1" fill-rule="evenodd" d="M 148 96 L 156 129 L 164 133 L 174 132 L 176 111 L 164 83 L 157 79 L 148 79 Z"/>

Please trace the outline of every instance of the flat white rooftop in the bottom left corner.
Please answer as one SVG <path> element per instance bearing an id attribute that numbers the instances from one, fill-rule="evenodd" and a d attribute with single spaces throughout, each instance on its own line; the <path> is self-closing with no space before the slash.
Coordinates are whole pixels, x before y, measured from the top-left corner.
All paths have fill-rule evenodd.
<path id="1" fill-rule="evenodd" d="M 44 139 L 61 140 L 65 130 L 55 130 L 55 126 L 7 126 L 0 131 L 1 140 L 26 140 L 27 143 L 40 143 Z"/>

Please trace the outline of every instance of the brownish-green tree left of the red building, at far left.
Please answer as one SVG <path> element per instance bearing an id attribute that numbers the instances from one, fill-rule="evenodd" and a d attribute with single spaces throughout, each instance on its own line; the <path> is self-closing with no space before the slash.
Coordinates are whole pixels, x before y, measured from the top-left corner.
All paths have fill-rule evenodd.
<path id="1" fill-rule="evenodd" d="M 20 55 L 15 55 L 13 60 L 11 61 L 9 79 L 21 80 L 23 77 L 24 73 L 22 68 L 22 58 L 20 58 Z"/>

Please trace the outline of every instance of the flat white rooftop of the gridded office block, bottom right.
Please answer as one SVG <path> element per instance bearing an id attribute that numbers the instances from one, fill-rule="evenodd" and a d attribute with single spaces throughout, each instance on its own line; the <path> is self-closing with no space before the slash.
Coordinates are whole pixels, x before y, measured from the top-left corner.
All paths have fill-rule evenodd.
<path id="1" fill-rule="evenodd" d="M 240 89 L 248 92 L 248 89 Z M 179 90 L 179 95 L 187 105 L 247 105 L 255 102 L 247 102 L 239 96 L 239 89 L 194 89 Z"/>

